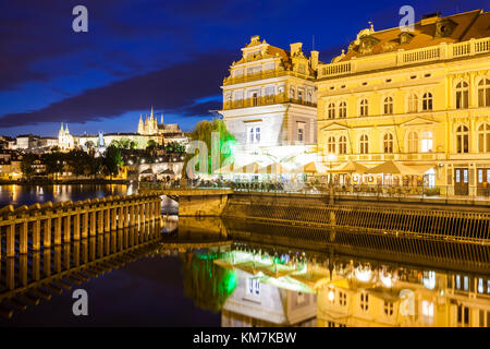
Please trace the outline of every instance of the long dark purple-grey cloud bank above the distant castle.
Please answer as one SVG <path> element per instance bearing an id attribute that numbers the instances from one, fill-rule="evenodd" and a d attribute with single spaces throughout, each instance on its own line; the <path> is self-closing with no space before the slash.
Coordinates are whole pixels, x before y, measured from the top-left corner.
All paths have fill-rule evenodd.
<path id="1" fill-rule="evenodd" d="M 220 94 L 222 79 L 228 75 L 226 68 L 234 59 L 235 51 L 194 55 L 186 62 L 86 89 L 38 110 L 5 115 L 0 118 L 0 127 L 61 121 L 84 123 L 148 109 L 151 105 L 162 110 L 182 109 L 187 116 L 205 111 L 207 115 L 207 110 L 218 109 L 219 103 L 195 105 L 195 100 Z"/>

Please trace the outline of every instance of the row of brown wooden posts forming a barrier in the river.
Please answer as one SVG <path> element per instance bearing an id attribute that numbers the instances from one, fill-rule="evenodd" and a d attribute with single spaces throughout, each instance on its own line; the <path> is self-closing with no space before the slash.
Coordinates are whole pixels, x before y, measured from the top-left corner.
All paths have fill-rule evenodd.
<path id="1" fill-rule="evenodd" d="M 47 202 L 30 206 L 13 205 L 0 209 L 1 244 L 7 257 L 26 254 L 28 240 L 32 250 L 101 234 L 127 227 L 139 227 L 160 218 L 161 197 L 157 193 L 128 196 L 107 196 L 78 202 Z"/>

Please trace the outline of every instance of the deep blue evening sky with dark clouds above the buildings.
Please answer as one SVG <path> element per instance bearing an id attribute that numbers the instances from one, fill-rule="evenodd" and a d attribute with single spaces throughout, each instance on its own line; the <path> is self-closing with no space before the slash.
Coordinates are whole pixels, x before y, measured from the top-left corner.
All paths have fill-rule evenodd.
<path id="1" fill-rule="evenodd" d="M 72 31 L 77 4 L 88 33 Z M 60 122 L 75 134 L 135 132 L 151 105 L 191 130 L 220 108 L 222 79 L 250 36 L 309 51 L 315 35 L 329 62 L 368 21 L 397 26 L 404 4 L 416 21 L 488 10 L 488 0 L 0 0 L 0 134 L 57 135 Z"/>

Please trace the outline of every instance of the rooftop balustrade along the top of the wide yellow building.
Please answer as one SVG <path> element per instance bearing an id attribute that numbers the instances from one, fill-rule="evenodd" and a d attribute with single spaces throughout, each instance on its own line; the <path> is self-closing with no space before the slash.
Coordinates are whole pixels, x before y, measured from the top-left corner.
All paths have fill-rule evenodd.
<path id="1" fill-rule="evenodd" d="M 470 39 L 464 43 L 448 44 L 441 43 L 438 46 L 430 46 L 413 50 L 393 51 L 393 59 L 387 58 L 385 65 L 379 68 L 401 67 L 405 64 L 414 64 L 419 62 L 446 60 L 458 57 L 467 57 L 473 55 L 490 52 L 490 38 Z M 394 57 L 393 57 L 394 56 Z M 320 64 L 318 69 L 318 77 L 330 77 L 344 75 L 348 73 L 364 72 L 372 70 L 371 64 L 364 64 L 366 60 L 372 59 L 372 56 L 356 58 L 355 60 L 336 62 L 331 64 Z"/>

